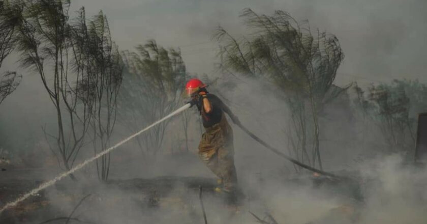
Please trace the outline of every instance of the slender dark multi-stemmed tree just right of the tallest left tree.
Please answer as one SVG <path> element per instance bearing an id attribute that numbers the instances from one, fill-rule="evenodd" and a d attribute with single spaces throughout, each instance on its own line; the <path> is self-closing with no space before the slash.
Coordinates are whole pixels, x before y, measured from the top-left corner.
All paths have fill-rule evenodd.
<path id="1" fill-rule="evenodd" d="M 87 24 L 82 8 L 72 30 L 75 67 L 84 70 L 77 97 L 88 105 L 90 132 L 95 154 L 109 148 L 117 115 L 117 94 L 123 75 L 123 61 L 111 39 L 106 16 L 100 12 Z M 107 180 L 110 154 L 96 161 L 98 177 Z"/>

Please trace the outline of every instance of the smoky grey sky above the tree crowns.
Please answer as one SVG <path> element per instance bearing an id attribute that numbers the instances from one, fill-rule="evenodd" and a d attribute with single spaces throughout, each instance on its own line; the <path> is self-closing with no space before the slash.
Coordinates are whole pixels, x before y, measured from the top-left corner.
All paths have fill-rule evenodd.
<path id="1" fill-rule="evenodd" d="M 180 46 L 190 72 L 209 73 L 215 60 L 217 25 L 239 35 L 241 10 L 271 14 L 289 12 L 309 19 L 313 29 L 335 34 L 345 52 L 339 82 L 387 81 L 408 77 L 427 81 L 427 1 L 425 0 L 80 0 L 89 14 L 102 9 L 121 49 L 132 49 L 149 38 L 165 46 Z"/>

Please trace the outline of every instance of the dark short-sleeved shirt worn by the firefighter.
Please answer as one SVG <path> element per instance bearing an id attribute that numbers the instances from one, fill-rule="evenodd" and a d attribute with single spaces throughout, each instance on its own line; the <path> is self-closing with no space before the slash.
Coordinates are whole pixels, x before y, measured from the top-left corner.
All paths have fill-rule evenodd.
<path id="1" fill-rule="evenodd" d="M 200 111 L 200 115 L 202 116 L 203 127 L 207 128 L 220 123 L 222 116 L 224 116 L 223 111 L 229 114 L 230 109 L 221 101 L 220 98 L 218 98 L 214 94 L 206 94 L 205 98 L 207 98 L 210 102 L 210 112 L 206 113 L 206 111 L 204 110 L 203 99 L 200 99 L 198 108 Z"/>

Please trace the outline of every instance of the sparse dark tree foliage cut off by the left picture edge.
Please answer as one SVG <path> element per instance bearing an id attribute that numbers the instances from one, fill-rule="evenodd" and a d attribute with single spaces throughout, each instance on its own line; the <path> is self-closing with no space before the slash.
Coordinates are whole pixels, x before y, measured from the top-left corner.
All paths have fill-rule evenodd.
<path id="1" fill-rule="evenodd" d="M 0 5 L 0 68 L 3 61 L 13 51 L 15 45 L 16 25 L 19 17 L 19 7 Z M 17 11 L 18 10 L 18 11 Z M 0 75 L 0 103 L 18 87 L 22 76 L 16 72 L 7 71 Z"/>

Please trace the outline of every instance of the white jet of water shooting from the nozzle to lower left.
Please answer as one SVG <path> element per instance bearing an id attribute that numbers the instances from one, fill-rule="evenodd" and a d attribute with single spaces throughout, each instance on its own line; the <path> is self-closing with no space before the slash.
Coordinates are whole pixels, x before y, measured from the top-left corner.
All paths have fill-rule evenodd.
<path id="1" fill-rule="evenodd" d="M 150 129 L 150 128 L 152 128 L 152 127 L 156 126 L 157 124 L 162 123 L 163 121 L 165 121 L 165 120 L 167 120 L 167 119 L 169 119 L 169 118 L 171 118 L 171 117 L 173 117 L 173 116 L 175 116 L 175 115 L 177 115 L 177 114 L 181 113 L 182 111 L 184 111 L 184 110 L 186 110 L 186 109 L 190 108 L 190 106 L 191 106 L 191 105 L 190 105 L 190 103 L 188 103 L 188 104 L 186 104 L 186 105 L 184 105 L 184 106 L 180 107 L 179 109 L 177 109 L 177 110 L 173 111 L 173 112 L 172 112 L 171 114 L 169 114 L 168 116 L 166 116 L 166 117 L 164 117 L 164 118 L 160 119 L 159 121 L 156 121 L 155 123 L 153 123 L 153 124 L 149 125 L 148 127 L 146 127 L 146 128 L 144 128 L 144 129 L 142 129 L 142 130 L 140 130 L 140 131 L 136 132 L 135 134 L 132 134 L 131 136 L 129 136 L 129 137 L 127 137 L 127 138 L 123 139 L 121 142 L 119 142 L 119 143 L 115 144 L 114 146 L 112 146 L 112 147 L 108 148 L 107 150 L 105 150 L 105 151 L 103 151 L 103 152 L 100 152 L 100 153 L 96 154 L 96 155 L 95 155 L 94 157 L 92 157 L 92 158 L 88 158 L 88 159 L 84 160 L 82 163 L 80 163 L 80 164 L 78 164 L 78 165 L 74 166 L 71 170 L 69 170 L 69 171 L 67 171 L 67 172 L 64 172 L 64 173 L 62 173 L 62 174 L 60 174 L 60 175 L 56 176 L 54 179 L 52 179 L 52 180 L 50 180 L 50 181 L 47 181 L 47 182 L 45 182 L 45 183 L 42 183 L 40 186 L 38 186 L 37 188 L 35 188 L 35 189 L 33 189 L 33 190 L 31 190 L 31 191 L 29 191 L 29 192 L 25 193 L 24 195 L 22 195 L 21 197 L 19 197 L 19 198 L 18 198 L 18 199 L 16 199 L 15 201 L 13 201 L 13 202 L 9 202 L 9 203 L 8 203 L 8 204 L 6 204 L 5 206 L 3 206 L 3 207 L 0 209 L 0 214 L 1 214 L 4 210 L 6 210 L 6 209 L 8 209 L 8 208 L 11 208 L 11 207 L 16 206 L 18 203 L 20 203 L 20 202 L 24 201 L 25 199 L 27 199 L 27 198 L 28 198 L 28 197 L 30 197 L 31 195 L 34 195 L 34 194 L 36 194 L 36 193 L 40 192 L 41 190 L 43 190 L 43 189 L 45 189 L 45 188 L 47 188 L 47 187 L 52 186 L 53 184 L 55 184 L 55 183 L 56 183 L 56 182 L 58 182 L 59 180 L 61 180 L 61 179 L 65 178 L 65 177 L 67 177 L 68 175 L 73 174 L 74 172 L 76 172 L 76 171 L 78 171 L 78 170 L 82 169 L 85 165 L 87 165 L 87 164 L 89 164 L 90 162 L 93 162 L 93 161 L 95 161 L 96 159 L 100 158 L 101 156 L 103 156 L 103 155 L 105 155 L 105 154 L 107 154 L 107 153 L 109 153 L 109 152 L 113 151 L 113 150 L 114 150 L 114 149 L 116 149 L 117 147 L 119 147 L 119 146 L 121 146 L 121 145 L 123 145 L 123 144 L 125 144 L 125 143 L 129 142 L 131 139 L 133 139 L 134 137 L 136 137 L 136 136 L 138 136 L 138 135 L 142 134 L 143 132 L 147 131 L 148 129 Z"/>

